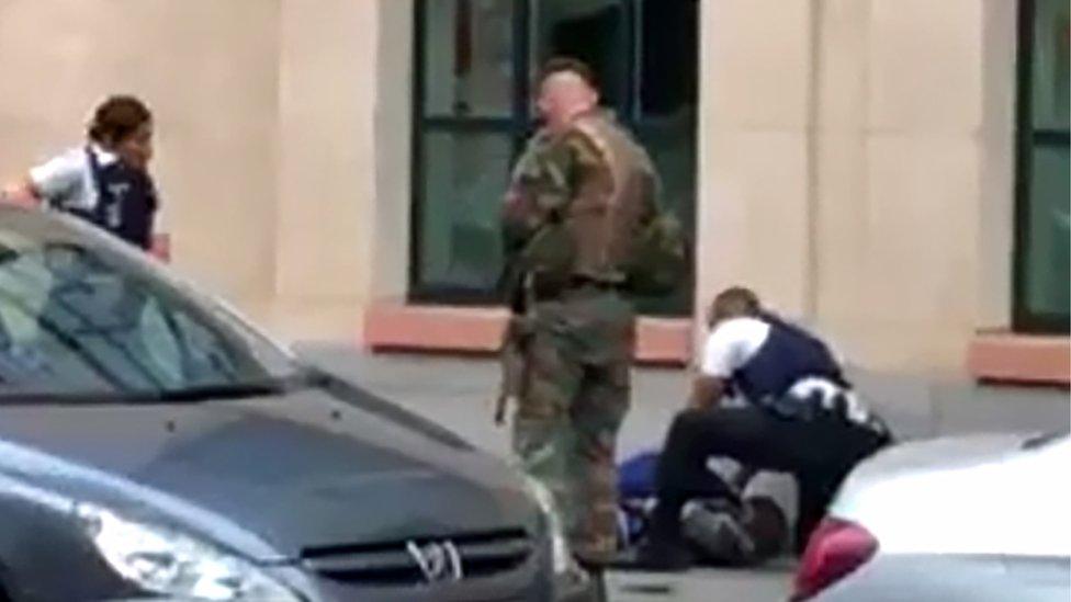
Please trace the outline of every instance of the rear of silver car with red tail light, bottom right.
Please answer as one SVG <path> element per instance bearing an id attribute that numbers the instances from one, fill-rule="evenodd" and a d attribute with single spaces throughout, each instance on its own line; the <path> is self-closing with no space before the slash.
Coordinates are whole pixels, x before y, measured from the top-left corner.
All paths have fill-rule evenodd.
<path id="1" fill-rule="evenodd" d="M 889 448 L 845 482 L 792 599 L 1067 602 L 1069 467 L 1066 433 Z"/>

